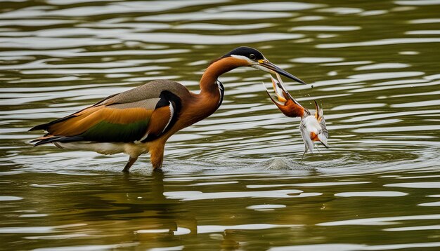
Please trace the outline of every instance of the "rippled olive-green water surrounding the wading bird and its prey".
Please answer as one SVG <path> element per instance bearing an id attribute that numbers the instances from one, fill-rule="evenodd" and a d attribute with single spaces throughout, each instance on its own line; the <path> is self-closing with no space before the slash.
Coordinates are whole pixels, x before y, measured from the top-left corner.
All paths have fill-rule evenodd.
<path id="1" fill-rule="evenodd" d="M 440 2 L 6 0 L 0 5 L 0 249 L 440 248 Z M 148 156 L 32 148 L 27 130 L 153 79 L 198 90 L 210 60 L 259 48 L 311 86 L 330 149 L 307 154 L 263 72 Z M 162 249 L 161 249 L 162 248 Z"/>

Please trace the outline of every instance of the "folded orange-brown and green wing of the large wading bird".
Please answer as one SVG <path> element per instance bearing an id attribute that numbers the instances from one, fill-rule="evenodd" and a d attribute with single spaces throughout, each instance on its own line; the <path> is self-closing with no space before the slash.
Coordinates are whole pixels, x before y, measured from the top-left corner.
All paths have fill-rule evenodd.
<path id="1" fill-rule="evenodd" d="M 65 141 L 146 142 L 169 130 L 179 116 L 180 99 L 167 90 L 158 97 L 141 100 L 121 99 L 120 95 L 125 94 L 112 95 L 75 114 L 31 130 L 44 129 L 47 135 L 61 136 Z"/>

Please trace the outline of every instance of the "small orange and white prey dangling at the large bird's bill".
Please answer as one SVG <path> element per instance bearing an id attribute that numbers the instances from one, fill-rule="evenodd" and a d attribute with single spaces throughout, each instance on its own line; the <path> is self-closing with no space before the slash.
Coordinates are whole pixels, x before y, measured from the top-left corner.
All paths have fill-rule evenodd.
<path id="1" fill-rule="evenodd" d="M 275 93 L 275 95 L 271 95 L 271 91 L 268 90 L 266 85 L 264 85 L 264 87 L 266 88 L 266 92 L 272 102 L 276 104 L 278 109 L 280 109 L 285 116 L 301 118 L 301 121 L 299 122 L 299 131 L 301 132 L 302 140 L 304 142 L 304 153 L 302 154 L 302 158 L 304 158 L 304 154 L 307 152 L 313 153 L 313 147 L 315 146 L 314 143 L 316 142 L 321 142 L 325 148 L 329 148 L 328 130 L 325 125 L 322 106 L 320 107 L 316 100 L 313 100 L 316 111 L 315 114 L 312 115 L 308 109 L 304 108 L 294 97 L 292 97 L 292 95 L 290 95 L 283 85 L 283 81 L 278 73 L 276 73 L 276 77 L 278 81 L 271 76 L 273 93 Z"/>

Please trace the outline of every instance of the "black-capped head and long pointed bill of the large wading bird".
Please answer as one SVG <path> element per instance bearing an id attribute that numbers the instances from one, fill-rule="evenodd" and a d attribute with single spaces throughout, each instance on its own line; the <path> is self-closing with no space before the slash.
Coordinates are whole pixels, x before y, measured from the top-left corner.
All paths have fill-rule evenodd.
<path id="1" fill-rule="evenodd" d="M 231 50 L 229 53 L 226 53 L 226 55 L 220 57 L 218 60 L 226 58 L 235 60 L 235 62 L 237 62 L 237 64 L 240 66 L 252 67 L 270 74 L 280 74 L 289 79 L 297 81 L 298 83 L 304 83 L 304 81 L 298 79 L 296 76 L 293 76 L 280 67 L 273 65 L 271 62 L 269 62 L 269 60 L 266 59 L 266 57 L 264 57 L 262 53 L 254 48 L 241 46 Z"/>

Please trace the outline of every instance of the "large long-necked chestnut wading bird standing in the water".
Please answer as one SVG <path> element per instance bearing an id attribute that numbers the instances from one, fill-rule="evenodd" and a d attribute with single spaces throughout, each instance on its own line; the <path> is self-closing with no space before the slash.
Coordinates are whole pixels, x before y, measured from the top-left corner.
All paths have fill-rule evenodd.
<path id="1" fill-rule="evenodd" d="M 220 107 L 224 86 L 218 78 L 237 67 L 252 67 L 305 84 L 273 65 L 257 49 L 241 46 L 209 64 L 200 79 L 200 93 L 171 80 L 150 81 L 105 97 L 74 114 L 30 128 L 47 132 L 30 142 L 34 147 L 52 143 L 60 149 L 105 155 L 124 153 L 129 160 L 123 172 L 129 172 L 138 156 L 149 153 L 153 170 L 161 170 L 169 137 Z"/>

